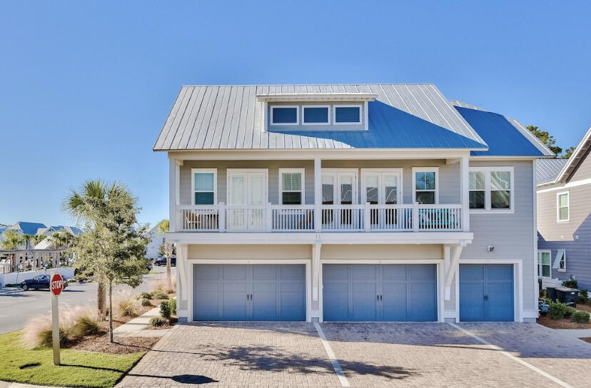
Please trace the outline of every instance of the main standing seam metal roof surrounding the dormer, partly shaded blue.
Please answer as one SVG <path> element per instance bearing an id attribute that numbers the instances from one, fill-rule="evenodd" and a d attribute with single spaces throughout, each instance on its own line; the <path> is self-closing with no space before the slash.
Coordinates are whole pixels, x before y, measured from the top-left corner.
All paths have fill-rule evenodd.
<path id="1" fill-rule="evenodd" d="M 264 131 L 257 94 L 375 93 L 369 131 Z M 487 148 L 430 84 L 183 86 L 154 150 L 261 148 Z"/>

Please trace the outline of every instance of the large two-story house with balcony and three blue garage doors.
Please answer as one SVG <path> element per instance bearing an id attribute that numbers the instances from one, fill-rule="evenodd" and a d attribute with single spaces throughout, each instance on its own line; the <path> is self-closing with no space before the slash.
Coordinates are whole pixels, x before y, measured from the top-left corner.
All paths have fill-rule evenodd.
<path id="1" fill-rule="evenodd" d="M 183 86 L 168 153 L 181 320 L 537 317 L 520 123 L 429 84 Z"/>

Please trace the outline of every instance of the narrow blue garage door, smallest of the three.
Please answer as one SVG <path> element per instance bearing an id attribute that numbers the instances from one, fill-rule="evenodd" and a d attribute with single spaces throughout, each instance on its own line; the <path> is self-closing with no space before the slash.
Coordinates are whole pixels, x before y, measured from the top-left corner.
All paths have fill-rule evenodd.
<path id="1" fill-rule="evenodd" d="M 460 321 L 510 322 L 513 299 L 513 265 L 460 265 Z"/>

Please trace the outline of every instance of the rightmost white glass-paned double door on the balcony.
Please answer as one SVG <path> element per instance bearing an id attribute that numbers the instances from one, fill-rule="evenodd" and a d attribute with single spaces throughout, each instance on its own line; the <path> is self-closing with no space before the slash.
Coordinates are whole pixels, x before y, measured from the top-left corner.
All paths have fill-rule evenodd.
<path id="1" fill-rule="evenodd" d="M 395 172 L 363 171 L 362 202 L 373 206 L 370 210 L 370 228 L 393 229 L 402 214 L 393 206 L 402 202 L 400 182 L 402 174 Z M 383 206 L 380 206 L 383 205 Z M 400 211 L 403 211 L 400 209 Z"/>

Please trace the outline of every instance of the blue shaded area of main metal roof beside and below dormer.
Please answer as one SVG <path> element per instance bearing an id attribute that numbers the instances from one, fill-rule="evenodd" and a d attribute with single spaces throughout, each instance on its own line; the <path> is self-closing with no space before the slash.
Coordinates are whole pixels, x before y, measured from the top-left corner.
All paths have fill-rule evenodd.
<path id="1" fill-rule="evenodd" d="M 486 148 L 443 126 L 411 115 L 381 101 L 368 102 L 368 131 L 293 131 L 273 133 L 308 136 L 343 143 L 351 148 Z"/>

